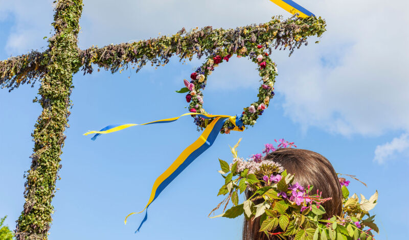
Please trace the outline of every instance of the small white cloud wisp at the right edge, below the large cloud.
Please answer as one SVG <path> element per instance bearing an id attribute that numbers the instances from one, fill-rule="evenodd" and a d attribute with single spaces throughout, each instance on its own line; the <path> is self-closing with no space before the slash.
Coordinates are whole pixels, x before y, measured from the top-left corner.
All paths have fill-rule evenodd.
<path id="1" fill-rule="evenodd" d="M 391 142 L 376 146 L 374 161 L 384 163 L 394 157 L 396 153 L 402 153 L 409 149 L 409 134 L 403 133 L 399 138 L 395 137 Z"/>

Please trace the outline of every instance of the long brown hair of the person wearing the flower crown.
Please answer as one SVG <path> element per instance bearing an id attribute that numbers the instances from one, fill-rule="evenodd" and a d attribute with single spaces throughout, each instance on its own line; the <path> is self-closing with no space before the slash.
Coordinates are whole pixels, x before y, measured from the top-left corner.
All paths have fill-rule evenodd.
<path id="1" fill-rule="evenodd" d="M 323 207 L 326 214 L 323 218 L 332 217 L 332 215 L 340 215 L 342 211 L 342 192 L 331 163 L 321 154 L 304 150 L 283 148 L 267 155 L 266 159 L 274 160 L 281 164 L 287 173 L 294 175 L 294 182 L 300 185 L 313 185 L 313 192 L 317 189 L 322 191 L 323 198 L 332 198 L 325 202 Z M 253 193 L 246 191 L 246 198 L 252 196 Z M 256 203 L 258 204 L 258 203 Z M 267 237 L 260 230 L 260 217 L 253 221 L 244 220 L 243 240 L 266 240 L 279 239 L 276 236 Z"/>

